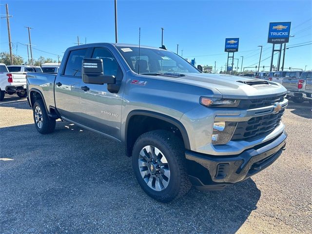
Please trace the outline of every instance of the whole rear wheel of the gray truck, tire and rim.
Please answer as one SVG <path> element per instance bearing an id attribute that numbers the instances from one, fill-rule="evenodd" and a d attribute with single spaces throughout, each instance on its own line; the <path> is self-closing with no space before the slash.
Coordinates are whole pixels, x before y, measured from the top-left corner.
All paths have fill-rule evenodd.
<path id="1" fill-rule="evenodd" d="M 42 99 L 36 100 L 33 106 L 33 117 L 39 133 L 48 134 L 54 131 L 56 125 L 55 118 L 48 117 Z"/>

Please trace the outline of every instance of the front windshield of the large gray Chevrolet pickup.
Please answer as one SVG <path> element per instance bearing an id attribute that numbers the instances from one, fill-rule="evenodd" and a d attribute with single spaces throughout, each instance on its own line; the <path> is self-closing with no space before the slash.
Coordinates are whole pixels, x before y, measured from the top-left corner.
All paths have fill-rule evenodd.
<path id="1" fill-rule="evenodd" d="M 138 47 L 117 46 L 117 49 L 131 70 L 139 74 L 200 73 L 189 62 L 169 51 L 140 48 L 139 61 Z"/>

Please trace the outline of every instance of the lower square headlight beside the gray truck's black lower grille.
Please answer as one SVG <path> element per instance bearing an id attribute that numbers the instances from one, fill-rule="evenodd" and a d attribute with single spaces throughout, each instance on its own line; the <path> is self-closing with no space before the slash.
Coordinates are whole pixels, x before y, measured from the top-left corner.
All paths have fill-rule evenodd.
<path id="1" fill-rule="evenodd" d="M 234 134 L 236 126 L 236 122 L 214 122 L 212 143 L 215 145 L 228 143 Z"/>

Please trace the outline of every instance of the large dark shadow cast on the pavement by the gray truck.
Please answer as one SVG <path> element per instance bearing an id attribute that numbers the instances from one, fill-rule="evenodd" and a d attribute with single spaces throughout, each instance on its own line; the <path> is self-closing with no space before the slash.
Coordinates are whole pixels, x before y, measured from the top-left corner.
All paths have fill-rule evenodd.
<path id="1" fill-rule="evenodd" d="M 0 135 L 1 158 L 13 159 L 0 160 L 7 233 L 235 233 L 261 195 L 248 179 L 162 204 L 142 191 L 131 158 L 111 139 L 60 121 L 49 135 L 33 124 L 0 128 Z M 13 140 L 23 149 L 6 143 Z"/>

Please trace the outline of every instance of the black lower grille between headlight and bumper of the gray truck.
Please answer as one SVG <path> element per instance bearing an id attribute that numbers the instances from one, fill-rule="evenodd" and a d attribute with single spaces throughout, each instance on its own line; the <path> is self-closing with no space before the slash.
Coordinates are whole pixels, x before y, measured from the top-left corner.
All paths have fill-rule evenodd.
<path id="1" fill-rule="evenodd" d="M 232 140 L 261 137 L 272 132 L 281 122 L 285 110 L 278 114 L 253 117 L 246 122 L 238 122 Z"/>

